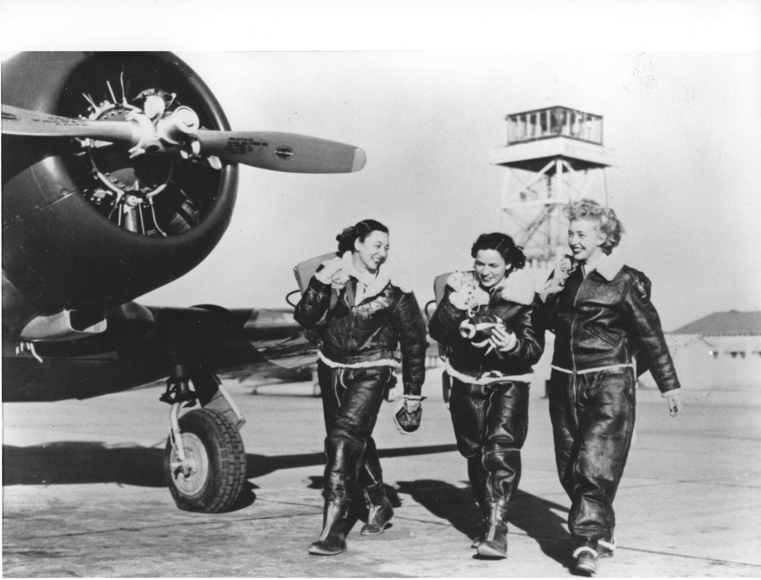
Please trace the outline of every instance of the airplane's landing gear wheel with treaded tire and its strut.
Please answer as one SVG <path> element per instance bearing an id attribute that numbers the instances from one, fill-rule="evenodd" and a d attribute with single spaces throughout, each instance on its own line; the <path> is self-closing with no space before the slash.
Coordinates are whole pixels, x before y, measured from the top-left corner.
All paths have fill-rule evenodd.
<path id="1" fill-rule="evenodd" d="M 237 429 L 244 421 L 213 374 L 196 371 L 191 376 L 184 365 L 177 365 L 161 396 L 172 406 L 164 476 L 178 508 L 227 511 L 246 482 L 246 451 Z M 182 403 L 195 406 L 196 400 L 204 408 L 179 416 Z"/>

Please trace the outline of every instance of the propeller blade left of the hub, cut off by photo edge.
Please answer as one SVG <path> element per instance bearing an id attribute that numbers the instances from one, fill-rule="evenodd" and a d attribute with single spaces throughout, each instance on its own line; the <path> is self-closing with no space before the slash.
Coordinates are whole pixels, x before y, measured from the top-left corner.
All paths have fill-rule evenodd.
<path id="1" fill-rule="evenodd" d="M 130 121 L 91 121 L 2 106 L 2 132 L 33 137 L 80 137 L 100 141 L 139 142 L 139 127 Z"/>

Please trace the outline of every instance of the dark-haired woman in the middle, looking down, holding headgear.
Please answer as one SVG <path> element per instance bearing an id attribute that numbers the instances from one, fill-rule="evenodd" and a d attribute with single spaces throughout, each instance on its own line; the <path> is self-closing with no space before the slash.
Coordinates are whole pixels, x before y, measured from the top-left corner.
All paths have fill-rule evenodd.
<path id="1" fill-rule="evenodd" d="M 531 366 L 544 341 L 533 330 L 535 294 L 522 269 L 526 258 L 512 238 L 482 234 L 470 255 L 473 271 L 449 277 L 428 330 L 447 349 L 457 448 L 484 518 L 473 547 L 481 556 L 505 558 L 528 429 Z"/>

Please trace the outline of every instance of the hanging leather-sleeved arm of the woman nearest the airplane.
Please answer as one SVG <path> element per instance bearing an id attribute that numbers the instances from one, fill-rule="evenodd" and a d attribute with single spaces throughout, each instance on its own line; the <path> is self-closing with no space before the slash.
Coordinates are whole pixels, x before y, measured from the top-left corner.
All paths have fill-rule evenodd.
<path id="1" fill-rule="evenodd" d="M 425 381 L 425 320 L 412 292 L 405 293 L 393 311 L 392 324 L 402 349 L 404 394 L 419 395 Z"/>

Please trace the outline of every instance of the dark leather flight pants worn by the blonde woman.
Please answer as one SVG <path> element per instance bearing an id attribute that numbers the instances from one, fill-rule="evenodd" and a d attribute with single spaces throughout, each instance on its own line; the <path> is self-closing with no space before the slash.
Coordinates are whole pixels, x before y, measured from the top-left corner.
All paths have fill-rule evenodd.
<path id="1" fill-rule="evenodd" d="M 630 367 L 585 374 L 552 369 L 549 416 L 576 543 L 613 541 L 613 498 L 632 444 L 635 383 Z"/>

